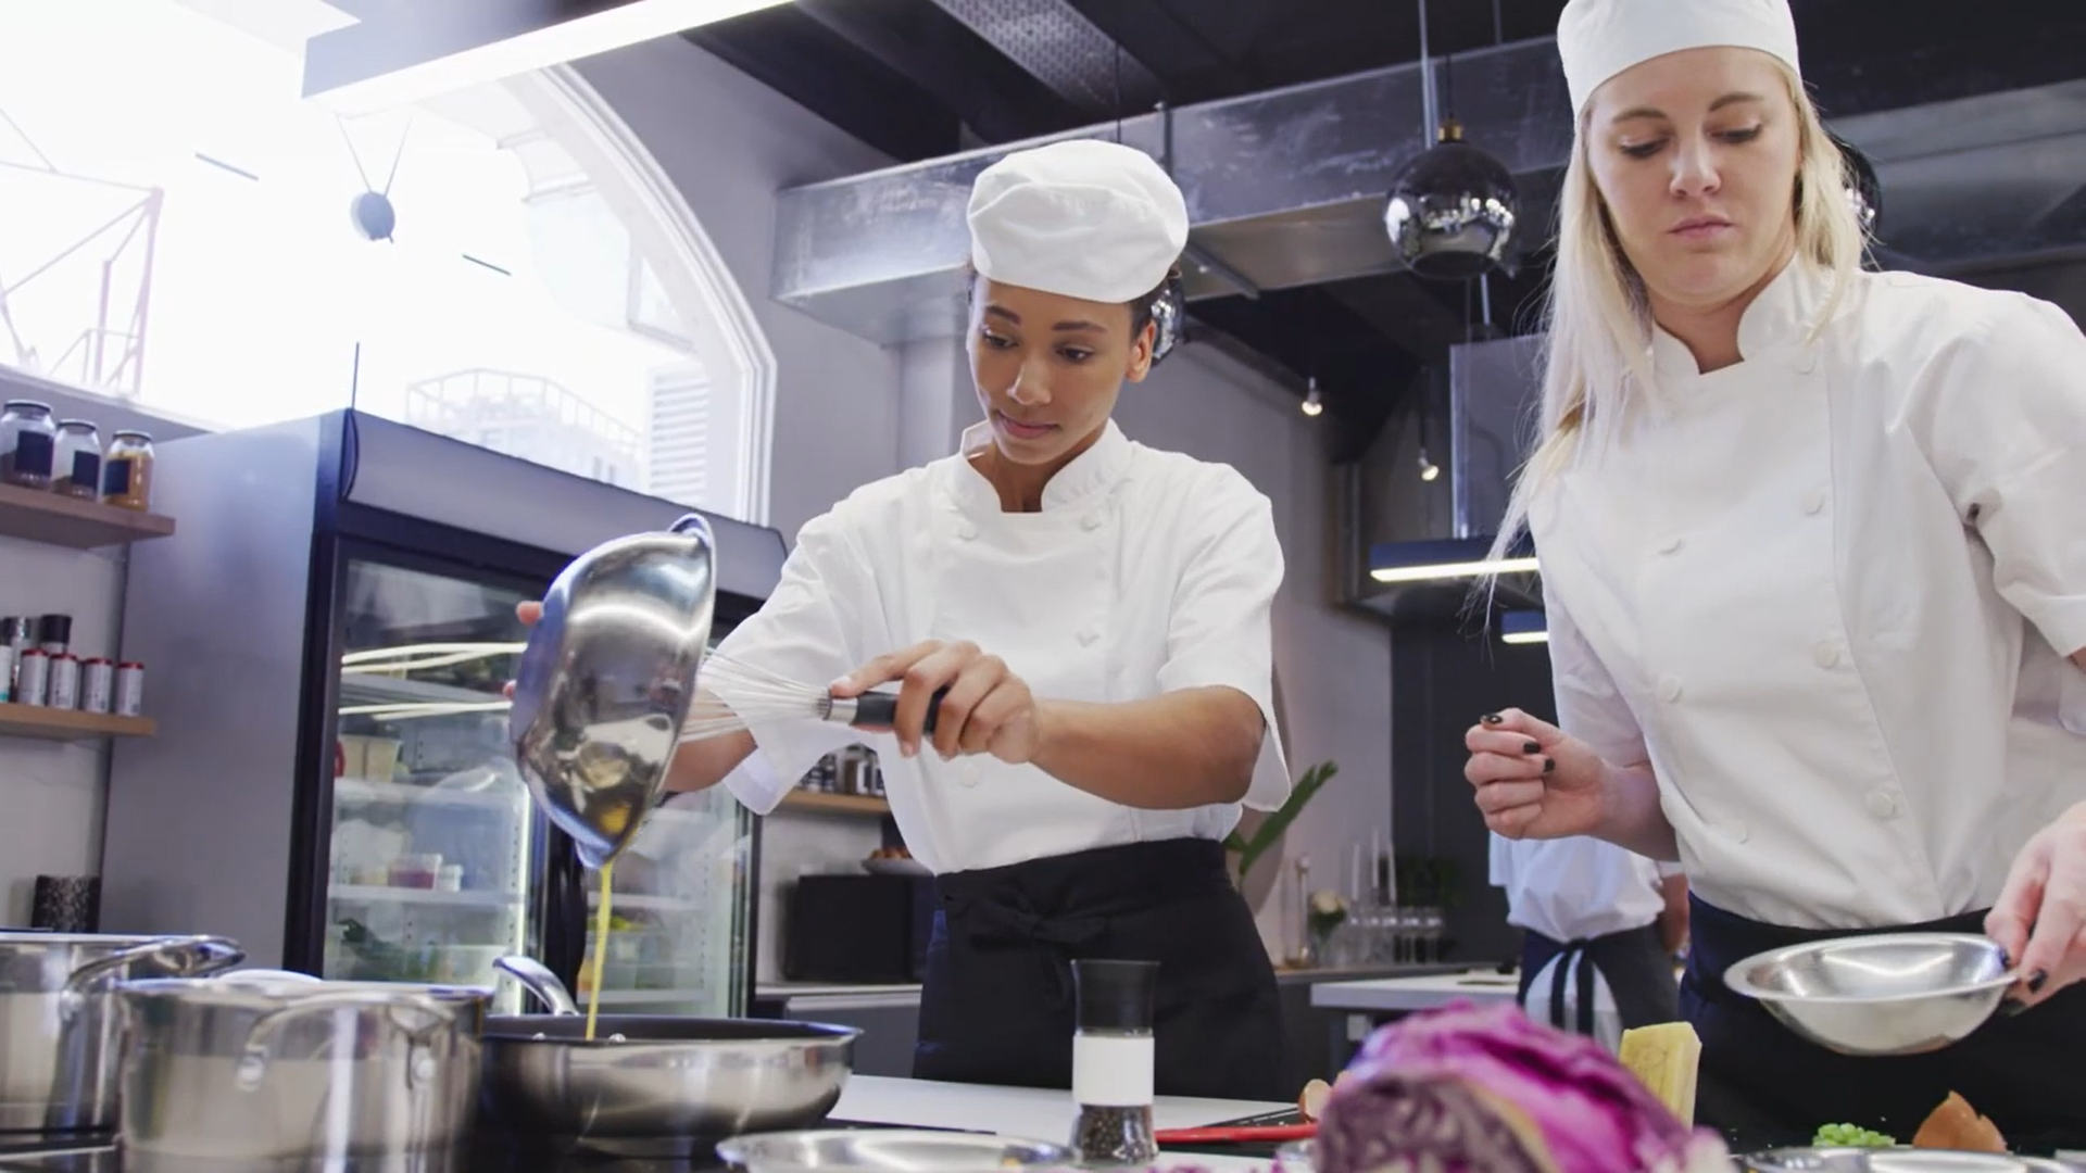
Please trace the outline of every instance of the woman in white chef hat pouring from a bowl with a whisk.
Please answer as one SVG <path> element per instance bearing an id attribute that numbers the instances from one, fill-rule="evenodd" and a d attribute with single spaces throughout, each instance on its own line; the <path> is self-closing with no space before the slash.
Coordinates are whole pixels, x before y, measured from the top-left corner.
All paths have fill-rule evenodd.
<path id="1" fill-rule="evenodd" d="M 805 524 L 718 655 L 839 695 L 899 683 L 895 728 L 866 741 L 941 897 L 916 1075 L 1070 1087 L 1070 962 L 1156 960 L 1158 1092 L 1293 1100 L 1275 971 L 1218 845 L 1241 804 L 1289 793 L 1272 511 L 1110 420 L 1151 369 L 1185 200 L 1139 150 L 1058 142 L 978 175 L 970 238 L 983 422 Z M 755 720 L 684 747 L 672 785 L 722 779 L 768 812 L 855 739 Z"/>

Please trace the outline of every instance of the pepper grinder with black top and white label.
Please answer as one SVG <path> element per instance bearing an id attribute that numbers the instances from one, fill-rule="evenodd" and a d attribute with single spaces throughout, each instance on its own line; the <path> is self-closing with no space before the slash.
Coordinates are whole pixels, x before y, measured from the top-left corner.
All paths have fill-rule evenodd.
<path id="1" fill-rule="evenodd" d="M 1076 960 L 1078 1031 L 1072 1035 L 1072 1148 L 1081 1165 L 1151 1165 L 1151 1012 L 1158 962 Z"/>

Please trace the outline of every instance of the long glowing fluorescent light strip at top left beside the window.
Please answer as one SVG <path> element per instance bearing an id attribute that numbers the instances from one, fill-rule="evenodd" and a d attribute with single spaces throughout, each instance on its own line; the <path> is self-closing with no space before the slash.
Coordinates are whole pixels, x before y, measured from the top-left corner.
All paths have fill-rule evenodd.
<path id="1" fill-rule="evenodd" d="M 455 0 L 448 0 L 455 2 Z M 469 2 L 469 0 L 465 0 Z M 440 94 L 467 90 L 484 81 L 501 81 L 519 73 L 565 65 L 611 48 L 680 33 L 715 21 L 728 21 L 789 0 L 632 0 L 613 8 L 576 17 L 544 29 L 482 44 L 419 65 L 350 81 L 313 94 L 315 102 L 342 115 L 369 115 L 423 102 Z"/>

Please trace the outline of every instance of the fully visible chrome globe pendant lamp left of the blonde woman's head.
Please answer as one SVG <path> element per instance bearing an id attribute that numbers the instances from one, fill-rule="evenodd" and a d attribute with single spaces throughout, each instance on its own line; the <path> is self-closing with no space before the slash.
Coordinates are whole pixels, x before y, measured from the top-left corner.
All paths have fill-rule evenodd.
<path id="1" fill-rule="evenodd" d="M 1398 259 L 1421 278 L 1464 282 L 1512 271 L 1521 194 L 1504 163 L 1464 142 L 1454 115 L 1435 119 L 1427 0 L 1418 0 L 1418 8 L 1421 94 L 1435 144 L 1398 171 L 1383 205 L 1383 230 Z"/>

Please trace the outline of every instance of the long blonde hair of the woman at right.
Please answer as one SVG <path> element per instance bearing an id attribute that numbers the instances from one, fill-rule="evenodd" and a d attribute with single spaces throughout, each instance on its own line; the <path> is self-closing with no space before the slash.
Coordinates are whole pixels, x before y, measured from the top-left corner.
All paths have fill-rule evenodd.
<path id="1" fill-rule="evenodd" d="M 1775 69 L 1796 104 L 1796 261 L 1832 273 L 1813 330 L 1823 328 L 1840 307 L 1867 238 L 1854 207 L 1846 200 L 1848 165 L 1825 134 L 1811 94 L 1796 71 L 1775 61 Z M 1579 115 L 1564 192 L 1558 205 L 1556 269 L 1544 309 L 1544 380 L 1537 411 L 1537 445 L 1521 468 L 1514 493 L 1494 538 L 1491 557 L 1502 559 L 1529 524 L 1529 505 L 1562 474 L 1592 438 L 1612 436 L 1623 407 L 1638 388 L 1652 386 L 1652 311 L 1644 278 L 1623 255 L 1608 219 L 1608 207 L 1594 186 L 1587 165 L 1587 115 Z"/>

